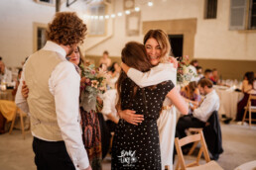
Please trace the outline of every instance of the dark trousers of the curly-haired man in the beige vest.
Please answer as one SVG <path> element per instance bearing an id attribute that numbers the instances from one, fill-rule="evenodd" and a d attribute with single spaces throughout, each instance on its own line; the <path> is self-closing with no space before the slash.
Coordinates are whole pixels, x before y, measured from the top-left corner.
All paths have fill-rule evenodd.
<path id="1" fill-rule="evenodd" d="M 34 137 L 33 151 L 38 170 L 75 170 L 64 141 L 45 141 Z"/>

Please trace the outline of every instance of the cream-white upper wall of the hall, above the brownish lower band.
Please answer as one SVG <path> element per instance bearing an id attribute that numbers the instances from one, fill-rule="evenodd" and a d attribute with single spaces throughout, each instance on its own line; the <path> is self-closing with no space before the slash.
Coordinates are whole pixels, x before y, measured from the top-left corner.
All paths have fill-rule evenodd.
<path id="1" fill-rule="evenodd" d="M 69 8 L 65 8 L 65 0 L 63 2 L 61 11 L 76 11 L 80 16 L 86 13 L 83 0 L 77 0 Z M 112 2 L 114 6 L 107 7 L 109 14 L 123 12 L 122 0 Z M 204 20 L 204 0 L 154 0 L 153 7 L 140 6 L 141 22 L 196 18 L 195 58 L 256 60 L 256 31 L 228 30 L 229 3 L 229 0 L 218 0 L 217 19 Z M 0 55 L 7 66 L 20 66 L 33 52 L 33 23 L 48 24 L 54 15 L 55 7 L 41 5 L 34 0 L 1 0 Z M 110 56 L 120 56 L 126 42 L 142 40 L 142 23 L 140 36 L 127 37 L 123 16 L 108 20 L 104 37 L 87 36 L 82 50 L 87 54 L 101 55 L 107 49 Z"/>

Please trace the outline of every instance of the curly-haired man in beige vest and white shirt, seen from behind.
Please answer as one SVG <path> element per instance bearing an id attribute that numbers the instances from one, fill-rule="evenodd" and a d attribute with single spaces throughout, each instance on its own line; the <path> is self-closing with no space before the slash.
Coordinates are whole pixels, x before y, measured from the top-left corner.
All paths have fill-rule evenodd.
<path id="1" fill-rule="evenodd" d="M 23 67 L 21 81 L 26 81 L 29 97 L 23 98 L 21 83 L 15 101 L 31 114 L 38 169 L 91 169 L 79 125 L 80 76 L 65 59 L 85 32 L 86 25 L 75 13 L 57 13 L 49 24 L 48 42 Z"/>

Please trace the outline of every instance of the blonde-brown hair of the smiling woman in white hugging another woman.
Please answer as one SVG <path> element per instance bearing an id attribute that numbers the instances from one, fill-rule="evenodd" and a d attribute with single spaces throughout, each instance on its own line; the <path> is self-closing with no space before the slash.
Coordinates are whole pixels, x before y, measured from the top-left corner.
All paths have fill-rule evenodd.
<path id="1" fill-rule="evenodd" d="M 144 37 L 144 45 L 151 38 L 155 39 L 161 47 L 162 52 L 160 56 L 160 62 L 168 62 L 169 56 L 172 54 L 172 51 L 167 34 L 162 30 L 150 30 Z"/>

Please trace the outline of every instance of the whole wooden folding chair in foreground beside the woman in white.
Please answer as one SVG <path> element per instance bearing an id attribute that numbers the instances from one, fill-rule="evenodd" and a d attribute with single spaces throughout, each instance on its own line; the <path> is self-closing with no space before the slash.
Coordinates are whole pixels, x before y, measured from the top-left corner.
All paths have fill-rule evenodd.
<path id="1" fill-rule="evenodd" d="M 184 155 L 182 151 L 182 146 L 192 143 L 195 141 L 200 142 L 200 149 L 198 152 L 198 155 L 196 157 L 196 160 L 188 165 L 185 164 Z M 223 170 L 215 161 L 210 161 L 207 146 L 203 137 L 203 133 L 201 130 L 198 131 L 196 134 L 188 135 L 182 139 L 179 139 L 178 137 L 175 138 L 175 145 L 176 150 L 178 153 L 178 163 L 176 166 L 176 170 L 182 169 L 182 170 Z M 203 165 L 199 165 L 199 160 L 201 157 L 201 154 L 203 153 L 203 156 L 205 158 L 206 163 Z M 181 168 L 179 168 L 181 166 Z"/>

